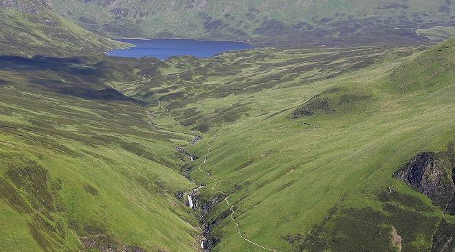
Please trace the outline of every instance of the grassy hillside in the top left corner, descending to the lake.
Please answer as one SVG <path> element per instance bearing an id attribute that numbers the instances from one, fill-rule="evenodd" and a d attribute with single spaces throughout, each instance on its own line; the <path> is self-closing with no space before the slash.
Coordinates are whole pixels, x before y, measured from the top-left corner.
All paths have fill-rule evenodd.
<path id="1" fill-rule="evenodd" d="M 52 12 L 42 0 L 1 1 L 0 53 L 16 56 L 103 54 L 126 47 L 84 30 Z"/>

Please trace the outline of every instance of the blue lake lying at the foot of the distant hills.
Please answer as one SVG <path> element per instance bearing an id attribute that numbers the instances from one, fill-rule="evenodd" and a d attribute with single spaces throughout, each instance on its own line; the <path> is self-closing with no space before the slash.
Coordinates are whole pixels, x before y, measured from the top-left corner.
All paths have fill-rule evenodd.
<path id="1" fill-rule="evenodd" d="M 206 58 L 217 55 L 223 51 L 254 48 L 243 42 L 232 41 L 195 41 L 190 39 L 118 39 L 126 43 L 134 44 L 129 49 L 109 51 L 108 56 L 156 57 L 164 60 L 170 56 L 191 55 L 198 58 Z"/>

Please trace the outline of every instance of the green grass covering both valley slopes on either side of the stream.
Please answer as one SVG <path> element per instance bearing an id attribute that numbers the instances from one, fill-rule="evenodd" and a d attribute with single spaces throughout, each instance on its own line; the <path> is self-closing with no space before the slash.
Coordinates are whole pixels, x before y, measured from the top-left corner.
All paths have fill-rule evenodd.
<path id="1" fill-rule="evenodd" d="M 5 58 L 1 144 L 10 161 L 3 163 L 3 190 L 18 192 L 20 201 L 4 202 L 22 214 L 28 224 L 20 230 L 43 249 L 192 250 L 200 224 L 181 193 L 195 185 L 179 174 L 190 169 L 190 178 L 206 185 L 199 206 L 218 198 L 203 218 L 212 223 L 214 251 L 258 249 L 238 236 L 216 190 L 230 195 L 243 235 L 265 247 L 318 251 L 311 244 L 325 237 L 335 251 L 360 249 L 362 236 L 349 235 L 363 222 L 346 220 L 365 214 L 363 221 L 374 224 L 365 236 L 377 230 L 384 236 L 364 248 L 390 247 L 384 241 L 395 227 L 406 238 L 403 248 L 425 251 L 441 212 L 392 179 L 410 157 L 437 152 L 454 138 L 452 54 L 438 54 L 452 45 L 413 54 L 422 48 L 254 49 L 164 62 Z M 428 76 L 439 85 L 428 86 L 425 68 L 424 82 L 408 71 L 419 60 L 441 73 Z M 158 69 L 153 76 L 135 74 L 151 66 Z M 328 105 L 309 102 L 315 99 Z M 313 113 L 294 119 L 305 106 Z M 190 135 L 204 139 L 186 148 L 200 158 L 184 165 L 173 156 Z M 217 179 L 215 191 L 199 164 Z M 36 183 L 34 175 L 14 180 L 21 169 L 47 182 Z M 397 197 L 384 202 L 378 195 L 389 186 Z M 383 217 L 368 220 L 372 212 Z"/>

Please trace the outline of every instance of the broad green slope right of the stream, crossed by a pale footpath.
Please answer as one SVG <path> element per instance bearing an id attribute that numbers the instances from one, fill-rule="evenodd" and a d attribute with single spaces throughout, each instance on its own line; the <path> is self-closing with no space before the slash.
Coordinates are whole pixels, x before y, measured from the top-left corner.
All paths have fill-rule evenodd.
<path id="1" fill-rule="evenodd" d="M 118 89 L 203 135 L 184 168 L 212 251 L 430 251 L 443 210 L 392 174 L 452 153 L 454 43 L 170 58 Z"/>

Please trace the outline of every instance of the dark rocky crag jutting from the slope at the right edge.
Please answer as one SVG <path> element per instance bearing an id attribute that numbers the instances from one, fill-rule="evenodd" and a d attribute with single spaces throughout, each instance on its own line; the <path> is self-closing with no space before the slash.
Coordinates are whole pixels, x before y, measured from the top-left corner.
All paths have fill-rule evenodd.
<path id="1" fill-rule="evenodd" d="M 445 211 L 455 192 L 452 180 L 452 162 L 443 154 L 423 152 L 393 174 L 410 184 L 414 190 L 430 197 L 434 205 Z"/>

